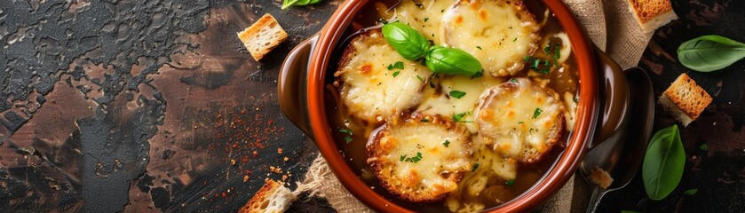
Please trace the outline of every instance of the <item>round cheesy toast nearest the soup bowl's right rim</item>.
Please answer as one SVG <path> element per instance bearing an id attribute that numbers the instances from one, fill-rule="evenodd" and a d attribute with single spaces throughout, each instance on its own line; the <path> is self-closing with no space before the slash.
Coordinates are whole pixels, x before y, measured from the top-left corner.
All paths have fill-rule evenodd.
<path id="1" fill-rule="evenodd" d="M 564 107 L 559 95 L 526 78 L 484 91 L 477 122 L 492 150 L 519 162 L 535 162 L 555 142 Z M 551 141 L 553 139 L 553 141 Z"/>

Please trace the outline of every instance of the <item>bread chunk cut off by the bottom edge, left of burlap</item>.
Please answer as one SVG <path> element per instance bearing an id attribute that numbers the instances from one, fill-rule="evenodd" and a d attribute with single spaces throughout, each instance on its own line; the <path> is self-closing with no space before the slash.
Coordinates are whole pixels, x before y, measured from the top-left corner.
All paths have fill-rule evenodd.
<path id="1" fill-rule="evenodd" d="M 240 213 L 280 213 L 289 208 L 295 194 L 279 182 L 266 179 L 264 186 L 254 194 L 238 212 Z"/>

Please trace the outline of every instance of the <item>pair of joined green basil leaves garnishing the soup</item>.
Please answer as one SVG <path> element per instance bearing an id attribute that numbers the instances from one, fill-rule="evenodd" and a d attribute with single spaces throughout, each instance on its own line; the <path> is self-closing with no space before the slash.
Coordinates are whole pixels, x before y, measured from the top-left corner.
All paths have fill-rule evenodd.
<path id="1" fill-rule="evenodd" d="M 476 75 L 483 68 L 478 59 L 468 52 L 455 48 L 432 45 L 416 29 L 401 22 L 384 24 L 383 37 L 399 52 L 401 57 L 409 60 L 424 58 L 424 63 L 434 73 L 448 75 Z"/>

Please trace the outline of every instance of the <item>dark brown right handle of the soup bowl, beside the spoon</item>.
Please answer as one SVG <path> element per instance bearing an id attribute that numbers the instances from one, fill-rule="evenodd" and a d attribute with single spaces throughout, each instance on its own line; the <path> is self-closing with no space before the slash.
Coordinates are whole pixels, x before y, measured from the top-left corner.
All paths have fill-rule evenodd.
<path id="1" fill-rule="evenodd" d="M 595 138 L 590 141 L 589 148 L 610 138 L 614 132 L 622 128 L 622 122 L 629 113 L 629 82 L 623 69 L 618 66 L 613 59 L 610 59 L 606 53 L 595 48 L 598 59 L 598 71 L 603 74 L 600 76 L 600 104 L 603 107 L 602 120 L 598 120 L 598 129 L 595 131 Z"/>

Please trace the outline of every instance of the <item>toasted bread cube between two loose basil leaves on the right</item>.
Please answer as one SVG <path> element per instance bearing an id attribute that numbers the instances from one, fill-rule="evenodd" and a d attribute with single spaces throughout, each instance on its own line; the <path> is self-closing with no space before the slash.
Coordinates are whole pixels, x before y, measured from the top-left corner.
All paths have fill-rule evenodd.
<path id="1" fill-rule="evenodd" d="M 660 104 L 683 126 L 688 126 L 709 106 L 711 100 L 709 93 L 696 85 L 688 75 L 682 74 L 662 93 Z"/>

